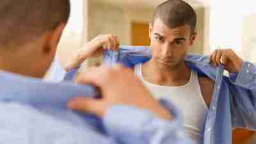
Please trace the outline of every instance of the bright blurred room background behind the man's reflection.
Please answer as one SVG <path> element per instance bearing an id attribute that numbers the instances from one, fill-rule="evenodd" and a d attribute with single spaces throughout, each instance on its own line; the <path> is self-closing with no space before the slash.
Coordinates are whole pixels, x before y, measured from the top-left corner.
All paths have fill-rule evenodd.
<path id="1" fill-rule="evenodd" d="M 72 13 L 58 47 L 57 57 L 65 65 L 71 54 L 100 34 L 118 35 L 122 45 L 149 45 L 148 23 L 154 7 L 164 0 L 71 0 Z M 186 0 L 198 16 L 198 37 L 192 53 L 211 54 L 218 47 L 231 48 L 243 60 L 256 63 L 255 1 Z M 90 59 L 84 67 L 100 65 Z M 234 144 L 256 143 L 252 131 L 234 131 Z"/>

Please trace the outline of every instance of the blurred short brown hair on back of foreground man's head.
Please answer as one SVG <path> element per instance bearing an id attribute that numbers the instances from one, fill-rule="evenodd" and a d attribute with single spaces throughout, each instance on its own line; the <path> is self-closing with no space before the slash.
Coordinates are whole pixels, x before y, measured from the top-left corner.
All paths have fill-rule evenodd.
<path id="1" fill-rule="evenodd" d="M 0 47 L 33 42 L 61 22 L 67 23 L 69 15 L 69 0 L 1 0 Z"/>

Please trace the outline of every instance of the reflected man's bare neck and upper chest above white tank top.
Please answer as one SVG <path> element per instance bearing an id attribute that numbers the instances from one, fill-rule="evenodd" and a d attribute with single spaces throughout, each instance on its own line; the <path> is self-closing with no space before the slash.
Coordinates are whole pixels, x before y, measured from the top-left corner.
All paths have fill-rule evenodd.
<path id="1" fill-rule="evenodd" d="M 191 70 L 184 61 L 180 62 L 175 68 L 159 67 L 155 61 L 150 60 L 141 67 L 143 78 L 154 84 L 164 86 L 180 86 L 188 83 Z"/>

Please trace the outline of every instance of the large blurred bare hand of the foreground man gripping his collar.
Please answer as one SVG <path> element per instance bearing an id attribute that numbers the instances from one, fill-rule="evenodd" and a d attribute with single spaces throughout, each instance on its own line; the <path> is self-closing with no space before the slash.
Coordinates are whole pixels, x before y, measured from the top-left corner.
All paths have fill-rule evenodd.
<path id="1" fill-rule="evenodd" d="M 112 106 L 122 104 L 147 109 L 158 117 L 172 120 L 170 113 L 150 95 L 132 71 L 122 66 L 92 68 L 79 75 L 76 82 L 97 86 L 102 98 L 72 99 L 67 106 L 75 111 L 93 113 L 102 117 Z"/>

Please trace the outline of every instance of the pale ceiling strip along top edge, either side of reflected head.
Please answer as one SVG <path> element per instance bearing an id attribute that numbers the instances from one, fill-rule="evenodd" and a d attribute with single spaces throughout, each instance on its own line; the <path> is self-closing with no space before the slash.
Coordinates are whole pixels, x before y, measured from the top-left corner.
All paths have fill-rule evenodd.
<path id="1" fill-rule="evenodd" d="M 118 6 L 120 8 L 153 9 L 158 4 L 163 3 L 163 1 L 165 0 L 92 0 L 92 1 L 93 3 L 95 2 L 107 3 L 113 6 Z M 184 1 L 191 4 L 191 6 L 193 7 L 200 7 L 209 3 L 210 0 L 184 0 Z"/>

